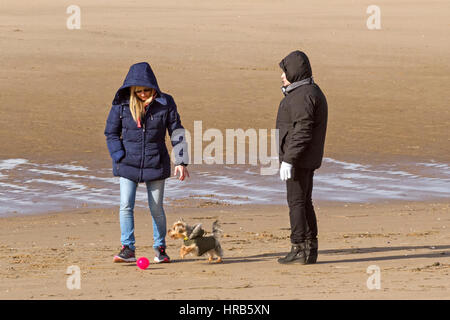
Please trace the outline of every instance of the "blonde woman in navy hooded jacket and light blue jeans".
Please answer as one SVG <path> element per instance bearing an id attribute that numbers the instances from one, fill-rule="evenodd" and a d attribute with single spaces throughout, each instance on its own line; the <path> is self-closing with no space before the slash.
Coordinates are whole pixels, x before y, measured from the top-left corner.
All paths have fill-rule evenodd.
<path id="1" fill-rule="evenodd" d="M 164 183 L 170 176 L 166 131 L 175 152 L 175 175 L 189 177 L 184 128 L 173 98 L 161 92 L 146 62 L 130 67 L 117 91 L 106 121 L 105 135 L 113 160 L 113 174 L 120 177 L 120 229 L 122 250 L 114 262 L 135 262 L 134 203 L 136 188 L 145 182 L 153 220 L 155 262 L 170 262 L 166 253 Z"/>

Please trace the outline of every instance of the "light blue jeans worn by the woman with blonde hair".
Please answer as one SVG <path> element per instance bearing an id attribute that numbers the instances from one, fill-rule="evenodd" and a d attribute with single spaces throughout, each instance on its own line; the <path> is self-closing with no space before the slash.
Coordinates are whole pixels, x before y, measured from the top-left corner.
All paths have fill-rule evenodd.
<path id="1" fill-rule="evenodd" d="M 153 247 L 166 246 L 166 214 L 163 208 L 165 180 L 146 182 L 148 206 L 153 220 Z M 134 203 L 138 184 L 120 177 L 120 241 L 135 250 Z"/>

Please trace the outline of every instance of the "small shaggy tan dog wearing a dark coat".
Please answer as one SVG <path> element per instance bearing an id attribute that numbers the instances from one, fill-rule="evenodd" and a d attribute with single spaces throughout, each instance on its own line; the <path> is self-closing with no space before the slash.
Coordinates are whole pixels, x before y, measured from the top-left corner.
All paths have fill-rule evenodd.
<path id="1" fill-rule="evenodd" d="M 222 262 L 223 250 L 219 242 L 222 230 L 218 221 L 212 224 L 212 236 L 205 236 L 206 232 L 200 223 L 190 226 L 183 219 L 175 222 L 168 233 L 172 239 L 184 240 L 180 249 L 181 259 L 191 252 L 197 256 L 207 253 L 209 262 L 213 262 L 214 256 L 217 256 L 216 262 Z"/>

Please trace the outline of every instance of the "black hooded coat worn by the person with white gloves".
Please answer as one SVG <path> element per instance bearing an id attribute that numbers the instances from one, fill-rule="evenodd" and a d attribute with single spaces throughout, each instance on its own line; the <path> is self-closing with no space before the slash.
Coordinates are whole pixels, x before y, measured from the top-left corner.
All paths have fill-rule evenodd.
<path id="1" fill-rule="evenodd" d="M 322 164 L 327 130 L 328 105 L 319 86 L 312 81 L 309 59 L 301 51 L 291 52 L 280 62 L 290 83 L 304 81 L 287 92 L 278 108 L 279 160 L 296 168 L 317 169 Z"/>

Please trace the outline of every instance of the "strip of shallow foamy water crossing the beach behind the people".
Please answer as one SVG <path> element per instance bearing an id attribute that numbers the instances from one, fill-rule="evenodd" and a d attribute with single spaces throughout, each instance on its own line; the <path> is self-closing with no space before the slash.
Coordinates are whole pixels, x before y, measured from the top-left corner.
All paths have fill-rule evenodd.
<path id="1" fill-rule="evenodd" d="M 166 181 L 166 202 L 192 197 L 231 204 L 286 204 L 278 174 L 260 175 L 259 166 L 191 165 L 186 182 Z M 344 202 L 448 199 L 446 163 L 359 164 L 325 158 L 315 172 L 313 198 Z M 111 206 L 120 200 L 119 178 L 110 168 L 90 169 L 76 162 L 38 164 L 26 159 L 0 160 L 0 216 L 32 214 L 82 206 Z M 141 184 L 136 206 L 147 207 Z"/>

